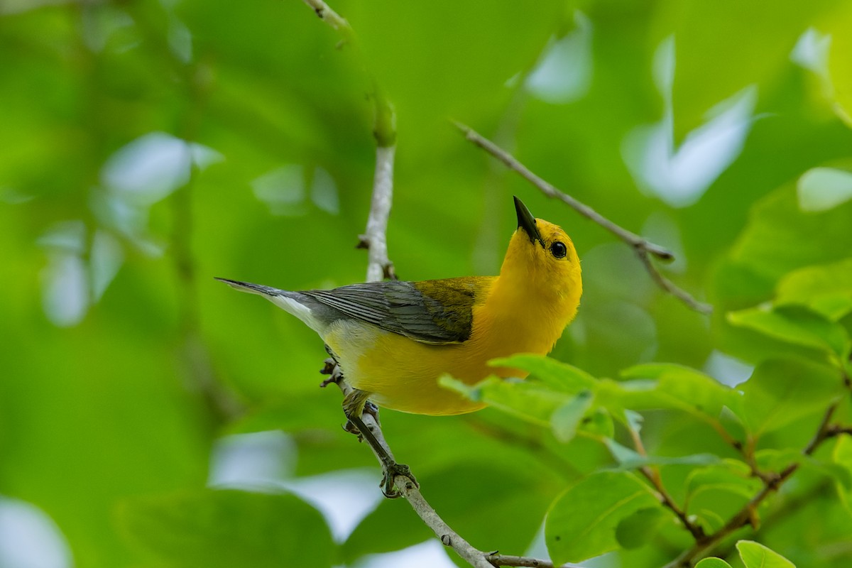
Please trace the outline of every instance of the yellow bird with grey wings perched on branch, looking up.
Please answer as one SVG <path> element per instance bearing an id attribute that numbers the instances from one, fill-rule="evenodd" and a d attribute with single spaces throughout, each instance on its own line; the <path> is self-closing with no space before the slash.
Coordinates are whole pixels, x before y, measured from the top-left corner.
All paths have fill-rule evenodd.
<path id="1" fill-rule="evenodd" d="M 577 313 L 583 285 L 571 238 L 533 218 L 515 198 L 518 228 L 499 276 L 371 282 L 291 292 L 219 278 L 266 297 L 320 334 L 354 387 L 343 401 L 359 417 L 366 401 L 429 415 L 483 404 L 438 385 L 447 373 L 475 383 L 491 374 L 523 378 L 488 361 L 549 353 Z"/>

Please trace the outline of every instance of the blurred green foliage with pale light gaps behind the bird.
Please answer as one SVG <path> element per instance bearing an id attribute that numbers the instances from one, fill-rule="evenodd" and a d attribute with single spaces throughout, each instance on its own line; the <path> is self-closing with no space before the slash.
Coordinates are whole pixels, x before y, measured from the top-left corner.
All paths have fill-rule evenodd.
<path id="1" fill-rule="evenodd" d="M 371 513 L 378 468 L 318 388 L 321 341 L 213 280 L 363 280 L 367 72 L 397 111 L 400 278 L 497 273 L 521 197 L 579 250 L 554 356 L 595 376 L 740 382 L 720 314 L 852 250 L 848 3 L 332 8 L 360 51 L 297 0 L 0 0 L 0 566 L 452 565 L 405 503 Z M 715 315 L 450 117 L 673 250 L 661 270 Z M 383 425 L 451 525 L 507 554 L 546 554 L 548 504 L 607 459 L 492 410 Z"/>

